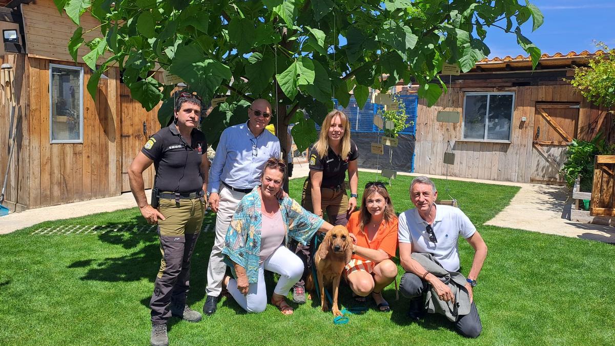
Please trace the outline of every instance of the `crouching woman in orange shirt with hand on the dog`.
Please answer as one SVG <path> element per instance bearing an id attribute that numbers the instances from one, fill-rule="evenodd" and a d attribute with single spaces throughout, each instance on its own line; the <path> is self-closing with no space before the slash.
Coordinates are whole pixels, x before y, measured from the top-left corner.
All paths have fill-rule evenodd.
<path id="1" fill-rule="evenodd" d="M 352 259 L 344 268 L 355 299 L 365 302 L 371 294 L 380 311 L 390 311 L 381 292 L 397 277 L 397 265 L 391 260 L 397 249 L 397 216 L 383 183 L 365 185 L 361 209 L 351 215 L 347 228 L 357 237 Z"/>

